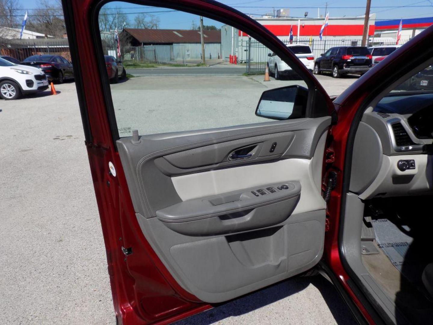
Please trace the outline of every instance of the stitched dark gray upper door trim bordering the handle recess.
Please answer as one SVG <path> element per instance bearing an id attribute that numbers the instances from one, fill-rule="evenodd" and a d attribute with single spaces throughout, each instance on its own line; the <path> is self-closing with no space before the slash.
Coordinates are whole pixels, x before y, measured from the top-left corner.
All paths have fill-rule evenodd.
<path id="1" fill-rule="evenodd" d="M 174 137 L 175 133 L 141 136 L 138 143 L 133 142 L 132 137 L 125 137 L 116 143 L 135 211 L 153 218 L 157 210 L 181 202 L 171 178 L 158 169 L 155 159 L 202 146 L 281 132 L 295 133 L 281 158 L 311 158 L 330 123 L 331 117 L 304 118 L 249 124 L 245 128 L 212 129 L 191 136 L 188 132 L 179 132 L 178 137 Z M 273 157 L 269 156 L 269 159 Z"/>

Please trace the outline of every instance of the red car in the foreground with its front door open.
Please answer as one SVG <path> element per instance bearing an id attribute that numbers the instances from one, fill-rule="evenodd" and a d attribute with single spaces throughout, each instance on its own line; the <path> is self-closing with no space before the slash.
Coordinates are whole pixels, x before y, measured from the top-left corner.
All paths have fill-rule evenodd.
<path id="1" fill-rule="evenodd" d="M 360 323 L 431 323 L 433 94 L 393 89 L 431 65 L 433 26 L 332 100 L 249 16 L 212 0 L 135 0 L 229 24 L 307 84 L 265 91 L 255 114 L 267 122 L 139 134 L 114 110 L 103 2 L 62 2 L 118 324 L 175 322 L 313 267 Z M 162 108 L 149 97 L 171 90 L 146 91 L 150 116 Z"/>

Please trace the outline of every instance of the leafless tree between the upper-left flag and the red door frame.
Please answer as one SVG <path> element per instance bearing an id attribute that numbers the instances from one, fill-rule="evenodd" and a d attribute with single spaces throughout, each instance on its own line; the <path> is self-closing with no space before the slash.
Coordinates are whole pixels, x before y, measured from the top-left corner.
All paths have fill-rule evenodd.
<path id="1" fill-rule="evenodd" d="M 48 0 L 38 0 L 38 8 L 32 10 L 29 15 L 26 29 L 45 34 L 45 36 L 63 37 L 66 27 L 60 0 L 57 0 L 55 4 Z"/>

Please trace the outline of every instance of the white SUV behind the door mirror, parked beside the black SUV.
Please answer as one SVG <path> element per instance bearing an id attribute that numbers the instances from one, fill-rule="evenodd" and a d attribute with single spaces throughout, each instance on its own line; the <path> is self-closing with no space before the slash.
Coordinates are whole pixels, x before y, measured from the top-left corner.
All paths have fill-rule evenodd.
<path id="1" fill-rule="evenodd" d="M 287 46 L 304 65 L 313 71 L 314 68 L 314 55 L 311 51 L 310 46 L 304 44 L 290 44 Z M 282 61 L 278 55 L 275 53 L 268 54 L 268 70 L 269 74 L 274 75 L 275 79 L 280 79 L 281 75 L 288 75 L 291 72 L 291 67 L 289 67 L 286 62 Z"/>

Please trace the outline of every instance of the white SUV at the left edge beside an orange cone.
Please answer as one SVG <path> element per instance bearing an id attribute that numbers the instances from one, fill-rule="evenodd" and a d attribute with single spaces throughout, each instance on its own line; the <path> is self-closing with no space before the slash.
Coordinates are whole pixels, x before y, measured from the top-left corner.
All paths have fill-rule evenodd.
<path id="1" fill-rule="evenodd" d="M 1 98 L 18 99 L 23 94 L 32 94 L 47 88 L 47 76 L 38 68 L 11 63 L 0 58 Z"/>

